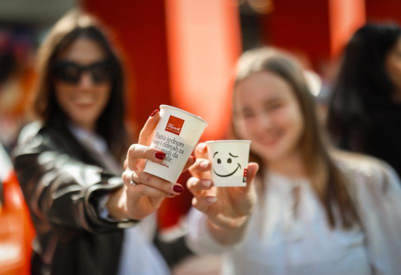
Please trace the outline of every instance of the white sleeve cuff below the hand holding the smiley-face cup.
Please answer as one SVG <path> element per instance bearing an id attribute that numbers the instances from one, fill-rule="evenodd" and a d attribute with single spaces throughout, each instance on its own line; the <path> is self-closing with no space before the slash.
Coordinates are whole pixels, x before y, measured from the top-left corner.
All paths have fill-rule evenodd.
<path id="1" fill-rule="evenodd" d="M 207 227 L 207 216 L 192 208 L 188 214 L 188 234 L 185 242 L 196 254 L 219 254 L 236 245 L 223 245 L 213 238 Z"/>

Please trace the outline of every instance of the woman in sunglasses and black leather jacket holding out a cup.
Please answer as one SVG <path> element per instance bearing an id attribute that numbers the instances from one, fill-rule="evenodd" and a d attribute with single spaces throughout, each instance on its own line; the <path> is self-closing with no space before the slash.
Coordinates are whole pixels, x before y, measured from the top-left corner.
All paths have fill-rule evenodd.
<path id="1" fill-rule="evenodd" d="M 145 159 L 165 156 L 147 146 L 158 109 L 129 146 L 121 64 L 85 13 L 60 19 L 38 57 L 40 121 L 23 129 L 15 152 L 37 230 L 33 274 L 168 273 L 139 226 L 128 228 L 183 189 L 143 172 Z"/>

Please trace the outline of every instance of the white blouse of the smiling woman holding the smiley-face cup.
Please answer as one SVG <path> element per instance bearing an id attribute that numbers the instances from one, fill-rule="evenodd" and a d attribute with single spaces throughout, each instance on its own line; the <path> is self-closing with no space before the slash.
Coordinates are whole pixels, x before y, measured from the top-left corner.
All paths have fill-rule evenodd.
<path id="1" fill-rule="evenodd" d="M 264 199 L 240 243 L 219 244 L 208 231 L 206 215 L 192 209 L 187 244 L 197 253 L 223 253 L 223 274 L 401 274 L 399 179 L 378 160 L 346 158 L 338 165 L 355 186 L 350 191 L 363 230 L 330 229 L 307 180 L 269 173 Z M 296 213 L 295 187 L 299 187 Z"/>

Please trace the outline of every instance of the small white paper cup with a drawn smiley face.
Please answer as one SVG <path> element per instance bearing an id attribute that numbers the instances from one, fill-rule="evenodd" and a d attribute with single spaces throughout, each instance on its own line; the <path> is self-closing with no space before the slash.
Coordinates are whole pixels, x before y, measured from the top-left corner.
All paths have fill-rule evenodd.
<path id="1" fill-rule="evenodd" d="M 215 186 L 246 186 L 251 140 L 206 141 Z"/>

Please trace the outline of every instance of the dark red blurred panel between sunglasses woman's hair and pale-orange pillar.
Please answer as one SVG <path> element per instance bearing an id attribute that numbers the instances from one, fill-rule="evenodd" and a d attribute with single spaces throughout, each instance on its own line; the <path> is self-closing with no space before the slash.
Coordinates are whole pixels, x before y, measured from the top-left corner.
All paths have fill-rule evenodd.
<path id="1" fill-rule="evenodd" d="M 159 104 L 170 103 L 164 0 L 82 0 L 111 30 L 126 65 L 128 115 L 141 128 Z"/>

